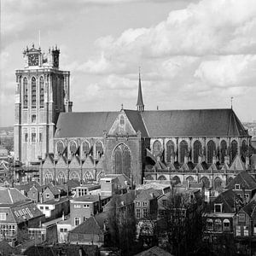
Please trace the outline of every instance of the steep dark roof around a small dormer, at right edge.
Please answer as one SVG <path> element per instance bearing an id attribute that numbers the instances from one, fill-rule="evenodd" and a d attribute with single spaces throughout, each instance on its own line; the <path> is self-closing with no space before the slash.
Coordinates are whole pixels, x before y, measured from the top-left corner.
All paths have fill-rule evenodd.
<path id="1" fill-rule="evenodd" d="M 225 189 L 235 189 L 236 184 L 240 184 L 241 189 L 256 189 L 255 179 L 246 171 L 239 172 Z"/>

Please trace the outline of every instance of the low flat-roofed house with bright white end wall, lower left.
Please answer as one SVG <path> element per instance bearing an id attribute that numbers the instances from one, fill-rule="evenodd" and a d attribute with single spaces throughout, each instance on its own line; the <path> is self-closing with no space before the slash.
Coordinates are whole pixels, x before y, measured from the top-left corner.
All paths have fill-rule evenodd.
<path id="1" fill-rule="evenodd" d="M 41 212 L 44 213 L 45 218 L 60 218 L 63 213 L 65 215 L 69 213 L 69 198 L 61 197 L 49 201 L 38 202 L 37 207 Z"/>

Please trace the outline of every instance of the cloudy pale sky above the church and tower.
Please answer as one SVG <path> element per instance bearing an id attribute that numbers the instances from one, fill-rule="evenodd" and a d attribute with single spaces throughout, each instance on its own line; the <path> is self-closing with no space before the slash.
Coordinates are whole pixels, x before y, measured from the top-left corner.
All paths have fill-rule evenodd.
<path id="1" fill-rule="evenodd" d="M 14 125 L 15 70 L 58 45 L 73 112 L 233 108 L 256 120 L 255 0 L 2 0 L 0 126 Z"/>

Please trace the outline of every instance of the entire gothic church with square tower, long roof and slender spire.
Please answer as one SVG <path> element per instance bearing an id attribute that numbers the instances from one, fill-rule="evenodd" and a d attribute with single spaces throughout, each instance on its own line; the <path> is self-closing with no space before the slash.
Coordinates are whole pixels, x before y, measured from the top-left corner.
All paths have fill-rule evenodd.
<path id="1" fill-rule="evenodd" d="M 146 110 L 138 78 L 137 108 L 73 113 L 60 50 L 24 50 L 16 71 L 15 157 L 39 165 L 40 183 L 98 181 L 124 173 L 146 180 L 225 186 L 250 171 L 250 140 L 232 108 Z"/>

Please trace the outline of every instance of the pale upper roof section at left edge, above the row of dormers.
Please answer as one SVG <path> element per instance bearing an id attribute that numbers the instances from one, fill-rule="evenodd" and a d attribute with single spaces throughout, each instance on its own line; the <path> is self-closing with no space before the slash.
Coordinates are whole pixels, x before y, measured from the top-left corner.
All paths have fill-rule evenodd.
<path id="1" fill-rule="evenodd" d="M 25 195 L 15 188 L 0 187 L 0 207 L 2 204 L 14 204 L 19 201 L 29 200 Z"/>

